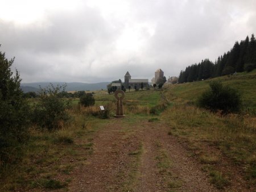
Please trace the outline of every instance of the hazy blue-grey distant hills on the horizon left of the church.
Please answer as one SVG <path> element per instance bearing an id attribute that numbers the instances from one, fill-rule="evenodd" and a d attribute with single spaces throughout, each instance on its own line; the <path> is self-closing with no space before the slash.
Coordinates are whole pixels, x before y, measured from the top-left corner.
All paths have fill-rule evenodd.
<path id="1" fill-rule="evenodd" d="M 27 93 L 29 91 L 38 91 L 39 85 L 43 88 L 50 84 L 50 82 L 33 82 L 33 83 L 23 83 L 20 85 L 24 93 Z M 54 86 L 56 85 L 64 85 L 64 82 L 52 82 Z M 101 90 L 106 89 L 106 86 L 110 84 L 110 82 L 100 82 L 96 84 L 85 84 L 81 82 L 71 82 L 67 83 L 67 91 L 94 91 L 94 90 Z"/>

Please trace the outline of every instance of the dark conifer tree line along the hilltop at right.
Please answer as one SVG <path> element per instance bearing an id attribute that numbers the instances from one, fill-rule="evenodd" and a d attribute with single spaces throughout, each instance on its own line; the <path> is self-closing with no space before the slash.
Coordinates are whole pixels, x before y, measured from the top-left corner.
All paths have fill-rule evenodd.
<path id="1" fill-rule="evenodd" d="M 246 36 L 240 43 L 236 41 L 230 51 L 219 56 L 215 62 L 204 59 L 198 64 L 181 70 L 179 83 L 205 80 L 236 72 L 250 72 L 256 68 L 256 40 L 254 34 Z"/>

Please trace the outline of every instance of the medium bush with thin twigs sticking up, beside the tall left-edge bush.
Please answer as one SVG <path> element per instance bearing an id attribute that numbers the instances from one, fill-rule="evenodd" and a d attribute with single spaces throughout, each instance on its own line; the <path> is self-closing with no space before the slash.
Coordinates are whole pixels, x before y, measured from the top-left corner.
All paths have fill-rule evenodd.
<path id="1" fill-rule="evenodd" d="M 71 101 L 63 97 L 65 85 L 52 84 L 39 91 L 39 102 L 34 106 L 33 122 L 40 128 L 53 130 L 61 128 L 70 116 L 67 109 L 71 107 Z"/>

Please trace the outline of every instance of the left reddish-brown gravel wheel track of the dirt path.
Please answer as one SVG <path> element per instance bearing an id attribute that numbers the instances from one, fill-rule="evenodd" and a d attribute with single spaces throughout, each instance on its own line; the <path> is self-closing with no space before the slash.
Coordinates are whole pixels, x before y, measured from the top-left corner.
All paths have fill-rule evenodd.
<path id="1" fill-rule="evenodd" d="M 122 191 L 134 171 L 134 156 L 140 143 L 133 133 L 123 131 L 121 120 L 103 128 L 93 139 L 88 163 L 74 170 L 70 191 Z"/>

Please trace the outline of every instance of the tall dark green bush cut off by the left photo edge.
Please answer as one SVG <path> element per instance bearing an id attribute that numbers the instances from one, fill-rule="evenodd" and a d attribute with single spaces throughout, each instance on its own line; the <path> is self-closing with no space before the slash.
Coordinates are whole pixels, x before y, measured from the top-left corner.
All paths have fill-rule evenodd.
<path id="1" fill-rule="evenodd" d="M 19 73 L 11 72 L 13 62 L 0 52 L 0 168 L 22 156 L 28 139 L 30 108 L 20 89 Z"/>

